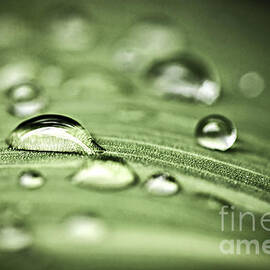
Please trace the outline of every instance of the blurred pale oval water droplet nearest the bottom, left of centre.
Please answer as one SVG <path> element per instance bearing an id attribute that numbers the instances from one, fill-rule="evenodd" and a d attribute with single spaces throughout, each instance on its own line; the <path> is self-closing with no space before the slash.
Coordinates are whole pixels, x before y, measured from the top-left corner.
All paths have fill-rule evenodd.
<path id="1" fill-rule="evenodd" d="M 95 215 L 72 215 L 63 222 L 65 237 L 77 244 L 97 243 L 104 239 L 107 228 Z"/>

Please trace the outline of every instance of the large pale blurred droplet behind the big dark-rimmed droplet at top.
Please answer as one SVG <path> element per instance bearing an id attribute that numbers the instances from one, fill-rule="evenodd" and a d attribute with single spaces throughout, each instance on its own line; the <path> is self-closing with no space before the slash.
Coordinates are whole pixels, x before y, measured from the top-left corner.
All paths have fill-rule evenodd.
<path id="1" fill-rule="evenodd" d="M 178 51 L 185 43 L 183 32 L 171 22 L 148 18 L 130 27 L 127 35 L 119 40 L 114 61 L 122 70 L 137 71 L 153 59 Z"/>

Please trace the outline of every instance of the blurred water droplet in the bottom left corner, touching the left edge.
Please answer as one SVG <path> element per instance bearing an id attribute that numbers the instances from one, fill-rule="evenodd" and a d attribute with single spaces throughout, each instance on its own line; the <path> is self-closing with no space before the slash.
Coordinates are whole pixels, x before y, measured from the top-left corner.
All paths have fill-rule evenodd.
<path id="1" fill-rule="evenodd" d="M 20 214 L 11 206 L 0 207 L 0 252 L 16 252 L 32 245 L 32 236 Z"/>

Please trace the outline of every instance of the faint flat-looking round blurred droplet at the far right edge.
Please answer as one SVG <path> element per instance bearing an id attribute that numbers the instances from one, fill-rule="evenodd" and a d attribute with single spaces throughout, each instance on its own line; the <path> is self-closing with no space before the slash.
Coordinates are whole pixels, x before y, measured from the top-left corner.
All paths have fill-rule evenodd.
<path id="1" fill-rule="evenodd" d="M 247 98 L 259 96 L 264 90 L 264 86 L 264 79 L 257 72 L 248 72 L 241 76 L 239 81 L 239 88 Z"/>

